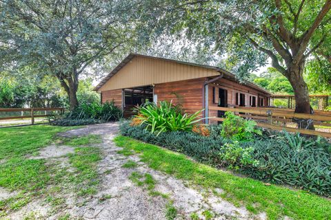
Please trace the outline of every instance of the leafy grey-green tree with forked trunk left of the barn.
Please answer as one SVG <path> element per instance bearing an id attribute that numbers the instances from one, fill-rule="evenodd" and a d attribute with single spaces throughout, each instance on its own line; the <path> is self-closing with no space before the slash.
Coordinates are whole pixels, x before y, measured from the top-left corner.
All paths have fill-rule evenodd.
<path id="1" fill-rule="evenodd" d="M 134 42 L 130 1 L 1 1 L 2 65 L 52 74 L 78 105 L 79 76 Z"/>

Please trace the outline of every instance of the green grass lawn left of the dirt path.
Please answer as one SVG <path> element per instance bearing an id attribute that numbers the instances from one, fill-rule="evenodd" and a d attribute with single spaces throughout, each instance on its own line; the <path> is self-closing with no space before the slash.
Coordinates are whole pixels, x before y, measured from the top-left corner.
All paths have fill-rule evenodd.
<path id="1" fill-rule="evenodd" d="M 45 199 L 54 210 L 66 198 L 60 192 L 76 192 L 77 196 L 92 195 L 98 184 L 97 161 L 101 142 L 99 135 L 58 137 L 56 134 L 76 127 L 49 125 L 0 129 L 0 187 L 16 192 L 0 200 L 0 218 L 25 206 L 34 198 Z M 59 159 L 31 159 L 50 144 L 71 146 L 74 153 Z M 68 167 L 61 162 L 68 158 Z M 70 171 L 71 169 L 71 171 Z"/>

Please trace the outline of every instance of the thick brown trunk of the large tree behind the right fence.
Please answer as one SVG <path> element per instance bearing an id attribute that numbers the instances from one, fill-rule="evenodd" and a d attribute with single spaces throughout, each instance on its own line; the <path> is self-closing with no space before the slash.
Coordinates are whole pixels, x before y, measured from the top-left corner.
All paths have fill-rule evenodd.
<path id="1" fill-rule="evenodd" d="M 303 68 L 304 63 L 301 63 L 301 65 L 292 65 L 290 68 L 288 68 L 288 80 L 290 81 L 290 84 L 294 90 L 294 112 L 313 114 L 314 111 L 310 106 L 308 86 L 303 80 Z M 314 129 L 312 120 L 294 118 L 294 122 L 297 122 L 299 129 Z"/>

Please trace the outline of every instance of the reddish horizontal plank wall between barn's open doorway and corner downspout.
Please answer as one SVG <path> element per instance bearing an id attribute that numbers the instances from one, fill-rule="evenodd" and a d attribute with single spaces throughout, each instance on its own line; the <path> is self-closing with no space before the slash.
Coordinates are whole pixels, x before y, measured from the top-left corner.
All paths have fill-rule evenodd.
<path id="1" fill-rule="evenodd" d="M 167 100 L 174 104 L 182 104 L 188 113 L 203 109 L 203 83 L 205 78 L 181 80 L 172 83 L 161 83 L 154 87 L 157 100 Z"/>

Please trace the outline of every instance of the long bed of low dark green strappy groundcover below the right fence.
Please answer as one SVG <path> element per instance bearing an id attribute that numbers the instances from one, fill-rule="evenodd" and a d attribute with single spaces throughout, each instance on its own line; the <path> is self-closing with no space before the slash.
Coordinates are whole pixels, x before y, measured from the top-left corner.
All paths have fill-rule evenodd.
<path id="1" fill-rule="evenodd" d="M 123 122 L 120 129 L 122 135 L 185 153 L 216 167 L 230 166 L 255 179 L 331 197 L 331 151 L 327 140 L 302 137 L 298 141 L 290 133 L 264 131 L 249 141 L 233 142 L 219 135 L 219 126 L 210 126 L 209 137 L 185 131 L 155 135 L 129 122 Z"/>

